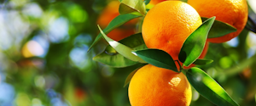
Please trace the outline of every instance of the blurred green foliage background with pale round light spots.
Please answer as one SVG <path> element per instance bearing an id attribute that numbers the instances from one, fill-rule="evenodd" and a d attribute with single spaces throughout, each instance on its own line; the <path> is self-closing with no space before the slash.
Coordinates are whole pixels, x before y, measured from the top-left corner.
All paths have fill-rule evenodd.
<path id="1" fill-rule="evenodd" d="M 125 78 L 139 64 L 93 61 L 96 21 L 111 0 L 0 0 L 0 106 L 130 106 Z M 256 12 L 256 1 L 248 0 Z M 256 15 L 249 11 L 253 20 Z M 256 35 L 210 43 L 201 66 L 242 106 L 256 105 Z M 193 90 L 191 106 L 213 106 Z"/>

